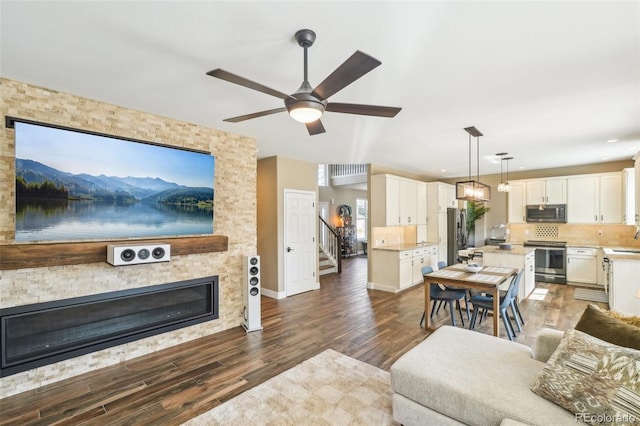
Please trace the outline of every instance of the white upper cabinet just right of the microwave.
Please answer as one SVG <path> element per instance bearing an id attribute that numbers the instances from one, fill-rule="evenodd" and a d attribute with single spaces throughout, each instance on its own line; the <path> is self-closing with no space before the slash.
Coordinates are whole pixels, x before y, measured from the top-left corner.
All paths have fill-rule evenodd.
<path id="1" fill-rule="evenodd" d="M 622 223 L 622 175 L 607 173 L 567 180 L 568 223 Z"/>

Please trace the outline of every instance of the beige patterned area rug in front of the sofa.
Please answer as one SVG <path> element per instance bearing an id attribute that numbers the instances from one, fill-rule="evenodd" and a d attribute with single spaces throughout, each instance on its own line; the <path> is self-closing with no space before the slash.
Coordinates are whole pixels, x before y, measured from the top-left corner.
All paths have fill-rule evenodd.
<path id="1" fill-rule="evenodd" d="M 328 349 L 185 425 L 398 425 L 391 393 L 388 372 Z"/>

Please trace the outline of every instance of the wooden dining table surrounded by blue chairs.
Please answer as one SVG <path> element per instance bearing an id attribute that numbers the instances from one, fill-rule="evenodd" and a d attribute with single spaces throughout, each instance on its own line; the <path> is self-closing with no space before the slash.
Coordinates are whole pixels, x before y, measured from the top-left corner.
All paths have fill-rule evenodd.
<path id="1" fill-rule="evenodd" d="M 477 268 L 479 269 L 479 268 Z M 499 336 L 499 304 L 500 287 L 511 277 L 518 274 L 514 268 L 499 266 L 482 266 L 477 272 L 469 270 L 469 265 L 457 263 L 424 275 L 424 312 L 425 329 L 434 331 L 431 325 L 431 285 L 440 284 L 447 287 L 479 290 L 493 296 L 493 335 Z M 465 302 L 468 303 L 468 302 Z"/>

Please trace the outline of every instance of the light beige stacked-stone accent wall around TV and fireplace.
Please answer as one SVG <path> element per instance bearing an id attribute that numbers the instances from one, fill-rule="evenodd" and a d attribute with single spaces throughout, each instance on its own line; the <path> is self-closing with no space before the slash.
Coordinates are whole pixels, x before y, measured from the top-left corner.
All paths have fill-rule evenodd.
<path id="1" fill-rule="evenodd" d="M 118 268 L 93 263 L 0 271 L 1 308 L 209 275 L 218 275 L 220 283 L 219 319 L 4 377 L 0 379 L 0 397 L 240 326 L 241 255 L 255 254 L 257 246 L 257 151 L 253 139 L 8 79 L 0 79 L 0 89 L 3 119 L 9 115 L 210 151 L 216 157 L 214 233 L 229 237 L 227 252 L 172 256 L 168 263 Z M 14 233 L 14 130 L 3 126 L 0 130 L 0 244 L 13 244 Z"/>

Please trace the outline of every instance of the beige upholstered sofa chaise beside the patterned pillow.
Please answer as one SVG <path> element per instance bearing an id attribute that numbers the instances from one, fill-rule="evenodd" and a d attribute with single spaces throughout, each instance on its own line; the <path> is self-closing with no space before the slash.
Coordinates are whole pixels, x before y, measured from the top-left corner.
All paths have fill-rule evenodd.
<path id="1" fill-rule="evenodd" d="M 543 329 L 534 350 L 443 326 L 391 366 L 393 419 L 412 425 L 573 425 L 573 414 L 530 388 L 563 333 Z"/>

